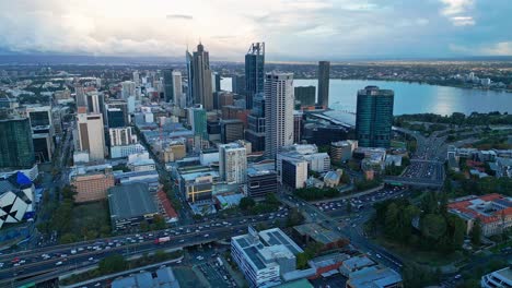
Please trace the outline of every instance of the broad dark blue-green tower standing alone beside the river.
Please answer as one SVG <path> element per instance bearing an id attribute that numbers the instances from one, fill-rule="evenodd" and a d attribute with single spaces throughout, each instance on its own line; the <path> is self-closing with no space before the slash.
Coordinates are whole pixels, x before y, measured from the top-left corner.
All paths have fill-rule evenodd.
<path id="1" fill-rule="evenodd" d="M 395 94 L 391 89 L 366 86 L 358 92 L 356 135 L 359 146 L 388 148 Z"/>

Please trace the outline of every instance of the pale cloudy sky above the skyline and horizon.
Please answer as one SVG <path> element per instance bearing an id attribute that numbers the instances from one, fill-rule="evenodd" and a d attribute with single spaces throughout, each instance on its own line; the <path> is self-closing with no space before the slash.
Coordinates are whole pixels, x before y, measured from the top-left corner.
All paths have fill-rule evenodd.
<path id="1" fill-rule="evenodd" d="M 0 0 L 0 53 L 243 61 L 512 55 L 511 0 Z"/>

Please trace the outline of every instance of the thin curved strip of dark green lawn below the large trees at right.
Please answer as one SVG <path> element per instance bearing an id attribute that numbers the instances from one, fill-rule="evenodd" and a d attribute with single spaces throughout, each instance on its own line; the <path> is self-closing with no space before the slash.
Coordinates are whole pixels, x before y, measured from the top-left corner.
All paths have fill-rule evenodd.
<path id="1" fill-rule="evenodd" d="M 389 251 L 396 253 L 404 260 L 415 262 L 421 265 L 429 265 L 429 266 L 443 266 L 449 264 L 455 264 L 459 261 L 464 260 L 464 255 L 462 253 L 440 253 L 434 251 L 420 251 L 412 248 L 404 247 L 397 243 L 393 243 L 383 237 L 379 237 L 377 239 L 373 239 L 376 244 L 380 244 Z"/>

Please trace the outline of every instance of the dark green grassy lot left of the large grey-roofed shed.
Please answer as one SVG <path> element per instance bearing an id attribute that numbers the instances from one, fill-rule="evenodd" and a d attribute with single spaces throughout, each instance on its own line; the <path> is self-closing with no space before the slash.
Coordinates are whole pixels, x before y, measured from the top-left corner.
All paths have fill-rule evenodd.
<path id="1" fill-rule="evenodd" d="M 110 215 L 108 209 L 108 202 L 98 201 L 79 204 L 73 207 L 72 215 L 73 218 L 71 221 L 71 229 L 75 235 L 81 235 L 84 237 L 89 233 L 90 237 L 88 238 L 92 238 L 93 233 L 96 233 L 96 237 L 109 236 Z"/>

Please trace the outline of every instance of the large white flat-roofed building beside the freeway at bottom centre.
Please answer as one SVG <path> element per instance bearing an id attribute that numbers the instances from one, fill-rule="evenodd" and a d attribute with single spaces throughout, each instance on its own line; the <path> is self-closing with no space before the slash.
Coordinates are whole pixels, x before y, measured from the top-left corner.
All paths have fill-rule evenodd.
<path id="1" fill-rule="evenodd" d="M 231 238 L 231 255 L 249 287 L 274 287 L 281 276 L 295 271 L 295 255 L 302 253 L 279 228 L 257 232 L 252 226 L 248 233 Z"/>

